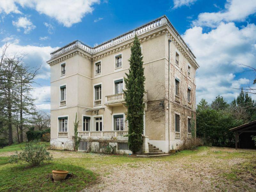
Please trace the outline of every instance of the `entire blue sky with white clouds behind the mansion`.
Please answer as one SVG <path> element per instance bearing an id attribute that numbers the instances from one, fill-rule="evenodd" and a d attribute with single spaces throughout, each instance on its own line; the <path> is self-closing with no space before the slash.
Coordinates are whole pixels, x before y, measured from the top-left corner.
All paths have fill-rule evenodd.
<path id="1" fill-rule="evenodd" d="M 256 67 L 255 0 L 0 0 L 0 46 L 27 54 L 42 65 L 31 93 L 39 109 L 50 109 L 50 52 L 76 39 L 93 46 L 166 15 L 197 57 L 197 102 L 218 94 L 228 101 L 234 88 L 252 83 Z"/>

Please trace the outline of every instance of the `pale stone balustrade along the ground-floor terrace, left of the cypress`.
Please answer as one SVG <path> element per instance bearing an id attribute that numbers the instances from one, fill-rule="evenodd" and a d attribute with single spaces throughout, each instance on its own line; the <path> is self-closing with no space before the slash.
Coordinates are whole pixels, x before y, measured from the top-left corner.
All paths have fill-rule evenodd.
<path id="1" fill-rule="evenodd" d="M 78 137 L 81 138 L 120 138 L 128 135 L 128 131 L 81 131 L 78 132 Z M 126 138 L 126 137 L 125 137 Z"/>

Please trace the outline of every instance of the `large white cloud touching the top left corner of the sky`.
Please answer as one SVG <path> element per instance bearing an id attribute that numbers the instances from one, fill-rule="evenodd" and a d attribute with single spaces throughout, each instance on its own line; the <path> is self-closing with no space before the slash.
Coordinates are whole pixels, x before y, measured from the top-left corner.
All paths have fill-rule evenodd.
<path id="1" fill-rule="evenodd" d="M 40 14 L 54 18 L 65 27 L 81 22 L 85 14 L 92 13 L 92 5 L 100 0 L 6 0 L 1 1 L 0 13 L 21 13 L 17 7 L 35 9 Z"/>

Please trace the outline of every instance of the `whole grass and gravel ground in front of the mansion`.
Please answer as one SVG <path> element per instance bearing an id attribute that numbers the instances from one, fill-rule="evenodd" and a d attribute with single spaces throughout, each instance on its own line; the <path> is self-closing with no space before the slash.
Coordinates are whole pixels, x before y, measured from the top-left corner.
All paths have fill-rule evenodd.
<path id="1" fill-rule="evenodd" d="M 54 160 L 34 168 L 9 164 L 9 152 L 0 149 L 0 191 L 256 190 L 255 150 L 200 147 L 158 158 L 50 150 Z M 53 169 L 73 176 L 52 182 Z"/>

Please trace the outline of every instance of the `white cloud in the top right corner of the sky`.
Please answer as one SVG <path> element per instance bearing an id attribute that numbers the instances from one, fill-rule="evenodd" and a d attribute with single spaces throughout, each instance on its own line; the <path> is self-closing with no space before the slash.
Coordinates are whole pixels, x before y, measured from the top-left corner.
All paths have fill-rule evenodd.
<path id="1" fill-rule="evenodd" d="M 204 12 L 193 21 L 195 26 L 217 27 L 221 21 L 245 21 L 245 19 L 256 12 L 255 0 L 227 0 L 225 10 L 219 12 Z"/>

